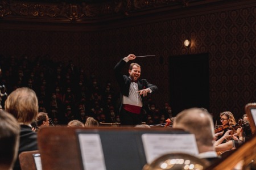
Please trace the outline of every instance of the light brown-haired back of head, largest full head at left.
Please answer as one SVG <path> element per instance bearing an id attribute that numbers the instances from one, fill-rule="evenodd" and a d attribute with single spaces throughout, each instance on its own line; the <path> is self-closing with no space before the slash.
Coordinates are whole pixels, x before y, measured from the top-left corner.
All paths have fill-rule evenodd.
<path id="1" fill-rule="evenodd" d="M 30 88 L 17 88 L 7 97 L 5 109 L 19 123 L 30 124 L 38 115 L 38 98 Z"/>

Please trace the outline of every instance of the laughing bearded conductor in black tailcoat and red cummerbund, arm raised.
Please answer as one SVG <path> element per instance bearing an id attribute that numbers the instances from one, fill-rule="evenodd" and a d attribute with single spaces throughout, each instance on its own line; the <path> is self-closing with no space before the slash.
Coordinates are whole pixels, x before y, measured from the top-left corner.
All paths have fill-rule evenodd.
<path id="1" fill-rule="evenodd" d="M 148 83 L 146 79 L 139 79 L 141 66 L 138 63 L 130 64 L 129 76 L 121 73 L 123 66 L 135 58 L 134 54 L 129 54 L 114 67 L 115 78 L 121 88 L 121 107 L 119 108 L 121 125 L 141 124 L 143 97 L 147 96 L 147 93 L 158 90 L 158 87 Z"/>

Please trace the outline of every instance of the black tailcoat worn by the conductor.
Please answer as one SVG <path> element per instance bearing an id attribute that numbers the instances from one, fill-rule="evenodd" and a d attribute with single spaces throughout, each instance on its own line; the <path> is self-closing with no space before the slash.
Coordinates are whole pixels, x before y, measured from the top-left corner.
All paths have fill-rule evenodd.
<path id="1" fill-rule="evenodd" d="M 126 61 L 121 59 L 117 63 L 117 65 L 115 65 L 115 67 L 114 67 L 115 78 L 117 79 L 119 87 L 121 88 L 121 98 L 120 98 L 121 102 L 120 102 L 119 111 L 121 111 L 121 108 L 122 108 L 122 98 L 123 98 L 122 96 L 124 95 L 124 96 L 129 97 L 129 90 L 130 90 L 130 85 L 131 85 L 130 77 L 122 74 L 122 69 L 123 69 L 123 66 L 125 66 L 125 65 L 126 65 Z M 146 79 L 139 79 L 137 84 L 138 84 L 139 90 L 150 88 L 152 93 L 154 91 L 158 90 L 158 87 L 156 87 L 154 84 L 148 83 Z M 144 97 L 143 97 L 143 95 L 141 97 L 142 97 L 142 103 L 143 103 Z"/>

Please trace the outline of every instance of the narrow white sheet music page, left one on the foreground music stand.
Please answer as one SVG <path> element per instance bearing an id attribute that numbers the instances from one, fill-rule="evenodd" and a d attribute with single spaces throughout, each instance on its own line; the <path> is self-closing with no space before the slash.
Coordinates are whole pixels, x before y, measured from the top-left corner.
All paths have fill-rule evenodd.
<path id="1" fill-rule="evenodd" d="M 84 170 L 106 170 L 99 134 L 79 134 L 79 144 Z"/>

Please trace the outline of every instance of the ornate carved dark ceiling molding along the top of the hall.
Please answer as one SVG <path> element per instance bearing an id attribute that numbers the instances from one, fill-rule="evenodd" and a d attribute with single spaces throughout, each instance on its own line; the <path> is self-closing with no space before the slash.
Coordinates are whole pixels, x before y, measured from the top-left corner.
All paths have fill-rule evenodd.
<path id="1" fill-rule="evenodd" d="M 100 2 L 81 0 L 79 3 L 3 0 L 0 2 L 0 19 L 27 19 L 36 22 L 47 20 L 47 22 L 64 23 L 97 22 L 97 20 L 112 20 L 131 15 L 148 14 L 155 10 L 164 10 L 167 7 L 169 9 L 183 8 L 199 2 L 202 0 L 112 0 Z"/>

